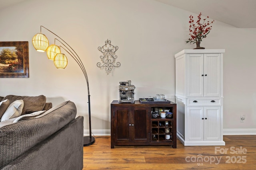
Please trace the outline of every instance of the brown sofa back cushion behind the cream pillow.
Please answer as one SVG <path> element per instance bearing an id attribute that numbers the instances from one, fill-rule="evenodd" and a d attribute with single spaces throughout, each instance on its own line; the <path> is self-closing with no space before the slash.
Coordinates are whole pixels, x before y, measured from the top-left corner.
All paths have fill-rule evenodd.
<path id="1" fill-rule="evenodd" d="M 46 97 L 44 95 L 40 95 L 40 96 L 8 95 L 8 96 L 5 96 L 3 100 L 6 100 L 6 99 L 9 99 L 10 103 L 14 102 L 15 100 L 24 101 L 24 108 L 22 110 L 21 115 L 43 110 L 46 103 Z"/>

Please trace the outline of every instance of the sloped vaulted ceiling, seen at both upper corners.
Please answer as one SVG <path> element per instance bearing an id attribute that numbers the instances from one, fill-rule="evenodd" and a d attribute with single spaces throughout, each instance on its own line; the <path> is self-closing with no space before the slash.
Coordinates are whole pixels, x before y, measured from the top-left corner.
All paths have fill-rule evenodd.
<path id="1" fill-rule="evenodd" d="M 26 0 L 1 0 L 0 10 Z M 156 0 L 238 28 L 256 28 L 256 0 Z"/>

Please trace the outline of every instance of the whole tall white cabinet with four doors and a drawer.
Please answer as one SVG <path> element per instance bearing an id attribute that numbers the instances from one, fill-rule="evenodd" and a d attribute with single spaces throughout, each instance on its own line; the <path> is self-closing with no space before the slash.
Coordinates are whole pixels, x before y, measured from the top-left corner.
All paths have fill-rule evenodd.
<path id="1" fill-rule="evenodd" d="M 177 137 L 185 146 L 223 141 L 224 49 L 188 49 L 176 60 Z"/>

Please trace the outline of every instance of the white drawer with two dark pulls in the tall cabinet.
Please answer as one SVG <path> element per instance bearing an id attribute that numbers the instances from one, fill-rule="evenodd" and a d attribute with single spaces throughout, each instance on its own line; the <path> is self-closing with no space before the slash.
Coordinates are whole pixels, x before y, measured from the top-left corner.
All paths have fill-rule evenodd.
<path id="1" fill-rule="evenodd" d="M 188 106 L 221 106 L 222 99 L 220 98 L 189 98 L 187 100 Z"/>

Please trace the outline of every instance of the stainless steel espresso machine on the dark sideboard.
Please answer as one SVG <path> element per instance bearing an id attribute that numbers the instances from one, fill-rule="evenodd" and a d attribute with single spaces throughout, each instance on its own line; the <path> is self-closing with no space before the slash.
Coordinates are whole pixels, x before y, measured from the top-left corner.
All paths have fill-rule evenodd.
<path id="1" fill-rule="evenodd" d="M 127 80 L 127 82 L 119 82 L 119 100 L 118 103 L 134 103 L 134 89 L 135 86 L 132 85 L 131 80 Z"/>

